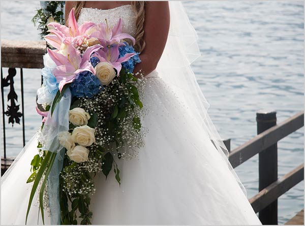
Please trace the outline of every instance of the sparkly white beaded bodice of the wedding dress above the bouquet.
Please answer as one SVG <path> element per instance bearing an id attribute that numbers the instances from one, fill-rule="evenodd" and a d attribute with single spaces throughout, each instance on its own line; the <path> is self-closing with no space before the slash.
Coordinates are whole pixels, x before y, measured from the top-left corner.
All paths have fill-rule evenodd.
<path id="1" fill-rule="evenodd" d="M 136 14 L 131 5 L 119 6 L 113 9 L 101 10 L 94 8 L 82 8 L 77 23 L 80 25 L 85 21 L 92 21 L 94 23 L 105 22 L 109 26 L 113 26 L 121 18 L 123 22 L 122 32 L 131 36 L 136 34 Z"/>

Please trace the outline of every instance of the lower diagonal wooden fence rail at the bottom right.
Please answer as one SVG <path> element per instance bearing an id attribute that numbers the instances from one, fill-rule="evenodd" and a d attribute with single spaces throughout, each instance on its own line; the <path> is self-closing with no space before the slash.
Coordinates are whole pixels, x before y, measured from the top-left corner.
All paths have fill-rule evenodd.
<path id="1" fill-rule="evenodd" d="M 298 184 L 303 179 L 304 163 L 258 192 L 254 197 L 249 199 L 249 202 L 251 203 L 254 211 L 257 213 L 273 201 L 277 200 L 286 191 Z"/>

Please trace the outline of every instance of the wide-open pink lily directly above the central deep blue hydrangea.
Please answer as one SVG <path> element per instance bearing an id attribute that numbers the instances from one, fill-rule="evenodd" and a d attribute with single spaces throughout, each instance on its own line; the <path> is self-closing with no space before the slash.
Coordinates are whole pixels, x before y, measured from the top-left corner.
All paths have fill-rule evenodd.
<path id="1" fill-rule="evenodd" d="M 68 46 L 67 56 L 58 53 L 56 50 L 47 49 L 50 58 L 55 62 L 56 68 L 53 69 L 52 73 L 59 82 L 59 91 L 62 91 L 63 87 L 67 83 L 74 81 L 77 74 L 83 71 L 89 71 L 95 74 L 95 69 L 89 62 L 90 55 L 103 48 L 100 45 L 91 46 L 86 49 L 82 57 L 78 50 L 72 45 Z"/>

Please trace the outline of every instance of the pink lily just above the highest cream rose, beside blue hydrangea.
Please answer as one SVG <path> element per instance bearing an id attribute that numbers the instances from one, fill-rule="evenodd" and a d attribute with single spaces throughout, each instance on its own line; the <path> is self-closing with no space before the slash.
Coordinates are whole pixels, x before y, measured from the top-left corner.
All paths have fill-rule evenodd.
<path id="1" fill-rule="evenodd" d="M 95 51 L 92 56 L 98 57 L 101 62 L 108 62 L 112 64 L 113 68 L 117 71 L 117 74 L 119 75 L 119 72 L 122 67 L 121 63 L 129 60 L 134 55 L 135 53 L 127 53 L 125 54 L 125 56 L 118 58 L 118 45 L 114 45 L 112 47 L 99 49 Z"/>

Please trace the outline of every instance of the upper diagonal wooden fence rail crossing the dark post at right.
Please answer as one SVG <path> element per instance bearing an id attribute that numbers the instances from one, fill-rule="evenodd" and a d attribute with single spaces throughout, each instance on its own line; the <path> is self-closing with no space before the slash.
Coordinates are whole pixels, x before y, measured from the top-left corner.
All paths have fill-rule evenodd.
<path id="1" fill-rule="evenodd" d="M 233 168 L 304 126 L 304 111 L 275 125 L 232 150 L 229 161 Z"/>

